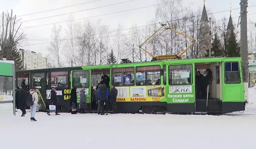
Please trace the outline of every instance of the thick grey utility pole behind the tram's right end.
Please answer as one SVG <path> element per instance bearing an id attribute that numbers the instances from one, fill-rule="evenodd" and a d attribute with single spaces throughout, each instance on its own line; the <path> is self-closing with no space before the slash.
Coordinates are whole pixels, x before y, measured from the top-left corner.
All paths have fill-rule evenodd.
<path id="1" fill-rule="evenodd" d="M 243 67 L 243 79 L 244 79 L 244 89 L 245 89 L 245 100 L 248 100 L 248 45 L 247 45 L 247 5 L 248 0 L 241 0 L 241 37 L 240 37 L 240 55 L 242 58 L 242 67 Z"/>

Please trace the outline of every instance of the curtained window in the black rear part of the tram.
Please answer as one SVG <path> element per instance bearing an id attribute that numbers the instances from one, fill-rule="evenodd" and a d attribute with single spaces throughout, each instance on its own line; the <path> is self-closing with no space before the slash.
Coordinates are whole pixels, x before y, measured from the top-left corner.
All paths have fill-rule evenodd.
<path id="1" fill-rule="evenodd" d="M 51 72 L 51 87 L 68 87 L 68 72 Z"/>

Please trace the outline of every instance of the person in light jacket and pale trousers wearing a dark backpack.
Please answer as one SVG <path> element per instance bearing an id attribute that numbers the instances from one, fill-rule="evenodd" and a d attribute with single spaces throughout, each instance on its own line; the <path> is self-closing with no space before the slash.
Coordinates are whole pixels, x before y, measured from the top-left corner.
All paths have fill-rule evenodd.
<path id="1" fill-rule="evenodd" d="M 29 96 L 28 98 L 32 97 L 33 100 L 33 104 L 30 106 L 30 120 L 31 121 L 37 121 L 35 119 L 35 114 L 36 114 L 36 106 L 37 106 L 37 102 L 38 102 L 38 94 L 36 92 L 36 87 L 33 86 L 32 89 L 29 90 Z"/>

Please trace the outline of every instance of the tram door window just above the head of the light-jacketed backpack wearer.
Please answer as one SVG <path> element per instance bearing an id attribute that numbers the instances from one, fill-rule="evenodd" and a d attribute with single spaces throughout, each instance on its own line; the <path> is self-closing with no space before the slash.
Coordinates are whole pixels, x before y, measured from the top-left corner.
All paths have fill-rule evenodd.
<path id="1" fill-rule="evenodd" d="M 46 79 L 44 78 L 44 73 L 31 73 L 32 86 L 36 88 L 45 88 Z"/>

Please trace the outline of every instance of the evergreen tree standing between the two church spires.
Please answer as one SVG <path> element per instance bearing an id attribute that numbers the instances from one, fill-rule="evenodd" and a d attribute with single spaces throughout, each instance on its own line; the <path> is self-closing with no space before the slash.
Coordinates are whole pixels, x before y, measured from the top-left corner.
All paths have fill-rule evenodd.
<path id="1" fill-rule="evenodd" d="M 221 57 L 223 56 L 220 39 L 218 38 L 217 34 L 214 35 L 214 39 L 211 43 L 211 57 Z M 204 57 L 209 57 L 209 50 L 206 50 L 206 54 Z"/>

